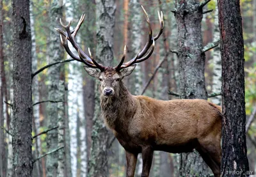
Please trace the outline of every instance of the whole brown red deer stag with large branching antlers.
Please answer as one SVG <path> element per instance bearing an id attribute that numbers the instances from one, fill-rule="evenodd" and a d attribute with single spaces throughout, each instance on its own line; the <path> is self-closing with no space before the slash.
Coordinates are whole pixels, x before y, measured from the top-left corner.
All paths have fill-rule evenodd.
<path id="1" fill-rule="evenodd" d="M 143 7 L 142 7 L 143 9 Z M 161 29 L 153 37 L 147 12 L 148 41 L 141 52 L 124 63 L 124 56 L 114 68 L 102 66 L 86 55 L 75 42 L 81 16 L 76 28 L 70 30 L 70 23 L 60 33 L 61 43 L 67 53 L 76 61 L 84 63 L 84 69 L 100 81 L 100 106 L 104 121 L 113 130 L 116 139 L 124 147 L 127 158 L 127 177 L 134 176 L 138 153 L 142 153 L 141 176 L 148 176 L 154 151 L 183 153 L 197 150 L 209 165 L 215 177 L 220 176 L 221 162 L 221 109 L 206 100 L 156 100 L 147 96 L 134 96 L 125 88 L 122 79 L 130 75 L 135 63 L 145 61 L 154 50 L 154 43 L 163 32 L 163 13 L 158 12 Z M 68 48 L 69 41 L 79 56 Z M 99 69 L 99 70 L 97 70 Z"/>

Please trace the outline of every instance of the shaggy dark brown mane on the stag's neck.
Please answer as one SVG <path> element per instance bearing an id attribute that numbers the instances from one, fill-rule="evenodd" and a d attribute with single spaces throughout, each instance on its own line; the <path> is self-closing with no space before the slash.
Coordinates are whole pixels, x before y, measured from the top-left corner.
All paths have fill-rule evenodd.
<path id="1" fill-rule="evenodd" d="M 109 128 L 120 132 L 127 128 L 125 126 L 136 111 L 136 100 L 120 81 L 120 91 L 118 96 L 111 98 L 100 95 L 100 106 L 104 121 Z"/>

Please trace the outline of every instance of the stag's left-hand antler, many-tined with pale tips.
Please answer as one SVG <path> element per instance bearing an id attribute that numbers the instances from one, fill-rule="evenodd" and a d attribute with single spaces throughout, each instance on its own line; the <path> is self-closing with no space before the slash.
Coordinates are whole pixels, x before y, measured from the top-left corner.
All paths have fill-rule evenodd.
<path id="1" fill-rule="evenodd" d="M 65 50 L 67 51 L 67 53 L 70 55 L 71 58 L 75 59 L 76 61 L 82 62 L 87 66 L 90 66 L 92 68 L 99 68 L 100 71 L 104 71 L 105 70 L 105 66 L 100 65 L 99 63 L 97 63 L 93 58 L 92 58 L 92 54 L 90 52 L 89 49 L 89 53 L 90 53 L 90 57 L 87 56 L 84 51 L 79 47 L 79 45 L 77 45 L 77 43 L 75 42 L 75 38 L 76 38 L 76 34 L 79 30 L 79 28 L 81 27 L 81 24 L 83 24 L 84 21 L 84 16 L 85 14 L 83 14 L 76 26 L 75 29 L 73 29 L 72 31 L 70 31 L 70 26 L 71 26 L 71 21 L 68 23 L 67 26 L 65 26 L 60 19 L 60 24 L 61 26 L 65 29 L 66 32 L 62 31 L 59 28 L 55 28 L 56 31 L 58 31 L 60 33 L 60 40 L 61 40 L 61 44 L 63 45 L 63 47 L 65 48 Z M 68 43 L 67 40 L 72 44 L 72 46 L 74 47 L 74 49 L 77 50 L 79 57 L 76 56 L 75 54 L 73 54 L 71 52 L 71 50 L 68 47 Z"/>

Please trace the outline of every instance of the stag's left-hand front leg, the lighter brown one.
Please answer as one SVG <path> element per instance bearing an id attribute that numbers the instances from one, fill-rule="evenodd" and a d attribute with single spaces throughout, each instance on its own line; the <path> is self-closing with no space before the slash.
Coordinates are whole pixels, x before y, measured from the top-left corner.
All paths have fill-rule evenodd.
<path id="1" fill-rule="evenodd" d="M 126 176 L 134 177 L 138 153 L 134 154 L 134 153 L 130 153 L 129 151 L 125 151 L 125 153 L 126 153 L 126 161 L 127 161 Z"/>

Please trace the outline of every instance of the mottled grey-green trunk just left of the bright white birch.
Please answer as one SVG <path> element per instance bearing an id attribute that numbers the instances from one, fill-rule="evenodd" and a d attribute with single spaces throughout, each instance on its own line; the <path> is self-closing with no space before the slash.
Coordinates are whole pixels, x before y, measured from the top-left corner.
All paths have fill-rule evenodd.
<path id="1" fill-rule="evenodd" d="M 51 27 L 60 24 L 59 20 L 62 17 L 62 1 L 54 0 L 51 3 L 50 20 Z M 50 31 L 49 41 L 49 59 L 52 62 L 61 61 L 63 59 L 63 48 L 60 44 L 60 38 L 55 31 Z M 49 95 L 48 100 L 61 100 L 60 70 L 63 65 L 54 65 L 48 69 L 49 75 Z M 49 103 L 47 106 L 47 127 L 52 128 L 58 126 L 58 104 Z M 58 130 L 51 130 L 47 133 L 47 150 L 52 151 L 58 147 Z M 51 153 L 47 156 L 46 161 L 47 177 L 56 177 L 58 169 L 58 152 Z"/>

